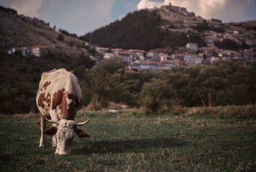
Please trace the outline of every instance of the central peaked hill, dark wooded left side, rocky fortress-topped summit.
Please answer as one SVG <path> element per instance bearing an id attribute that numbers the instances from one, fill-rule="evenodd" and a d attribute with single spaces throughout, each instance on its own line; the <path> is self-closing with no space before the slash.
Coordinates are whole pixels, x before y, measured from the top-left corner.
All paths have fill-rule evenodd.
<path id="1" fill-rule="evenodd" d="M 255 25 L 255 21 L 223 24 L 218 19 L 204 20 L 196 17 L 193 12 L 188 12 L 186 8 L 169 5 L 154 10 L 134 11 L 122 20 L 84 34 L 80 39 L 91 41 L 100 47 L 146 51 L 165 48 L 170 51 L 184 47 L 186 43 L 198 43 L 198 47 L 206 47 L 207 42 L 213 43 L 207 36 L 224 38 L 226 32 L 230 34 L 233 30 L 245 34 L 237 38 L 237 44 L 241 45 L 246 42 L 245 38 L 255 38 L 252 32 L 246 33 L 250 29 L 255 31 Z"/>

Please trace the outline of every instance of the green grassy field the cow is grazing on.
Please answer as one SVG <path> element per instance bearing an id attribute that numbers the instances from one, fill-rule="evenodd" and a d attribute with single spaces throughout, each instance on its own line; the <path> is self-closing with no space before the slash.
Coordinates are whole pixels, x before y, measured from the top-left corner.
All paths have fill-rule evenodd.
<path id="1" fill-rule="evenodd" d="M 2 115 L 0 171 L 256 171 L 255 115 L 186 111 L 78 114 L 91 118 L 82 127 L 91 138 L 76 136 L 68 156 L 54 155 L 50 137 L 38 147 L 37 115 Z"/>

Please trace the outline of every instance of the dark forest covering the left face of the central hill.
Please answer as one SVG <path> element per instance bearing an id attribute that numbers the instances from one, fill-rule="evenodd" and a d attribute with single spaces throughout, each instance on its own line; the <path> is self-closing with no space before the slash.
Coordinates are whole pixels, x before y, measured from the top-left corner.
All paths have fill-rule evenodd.
<path id="1" fill-rule="evenodd" d="M 156 11 L 134 11 L 122 20 L 85 34 L 80 39 L 92 41 L 100 47 L 141 50 L 186 45 L 186 35 L 161 29 L 163 22 Z"/>

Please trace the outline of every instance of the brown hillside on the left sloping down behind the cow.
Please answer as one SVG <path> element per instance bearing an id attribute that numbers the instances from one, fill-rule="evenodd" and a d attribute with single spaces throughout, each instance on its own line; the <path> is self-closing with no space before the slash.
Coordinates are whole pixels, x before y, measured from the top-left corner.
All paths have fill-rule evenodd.
<path id="1" fill-rule="evenodd" d="M 36 111 L 35 96 L 45 71 L 65 68 L 80 80 L 84 71 L 92 68 L 95 62 L 89 55 L 93 49 L 70 35 L 64 30 L 55 31 L 42 20 L 17 15 L 17 11 L 0 6 L 0 113 Z M 36 45 L 49 47 L 51 53 L 42 57 L 5 53 L 12 47 Z"/>

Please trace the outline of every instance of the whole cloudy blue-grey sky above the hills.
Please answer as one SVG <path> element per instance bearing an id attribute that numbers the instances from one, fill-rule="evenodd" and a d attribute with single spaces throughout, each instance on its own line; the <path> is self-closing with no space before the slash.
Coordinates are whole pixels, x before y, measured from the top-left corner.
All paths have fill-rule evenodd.
<path id="1" fill-rule="evenodd" d="M 256 0 L 151 1 L 182 6 L 205 19 L 218 18 L 223 22 L 256 20 Z M 145 4 L 145 0 L 0 0 L 1 6 L 40 18 L 78 36 L 122 19 L 131 11 L 143 9 Z"/>

